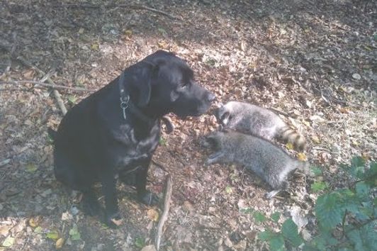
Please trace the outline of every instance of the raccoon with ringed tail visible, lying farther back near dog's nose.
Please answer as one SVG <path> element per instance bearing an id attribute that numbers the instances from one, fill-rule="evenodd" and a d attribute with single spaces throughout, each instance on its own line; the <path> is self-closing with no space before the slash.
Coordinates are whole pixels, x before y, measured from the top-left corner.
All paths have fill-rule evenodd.
<path id="1" fill-rule="evenodd" d="M 306 140 L 269 109 L 240 101 L 230 101 L 215 111 L 224 128 L 257 135 L 266 140 L 276 138 L 282 143 L 293 143 L 297 150 L 305 149 Z"/>

